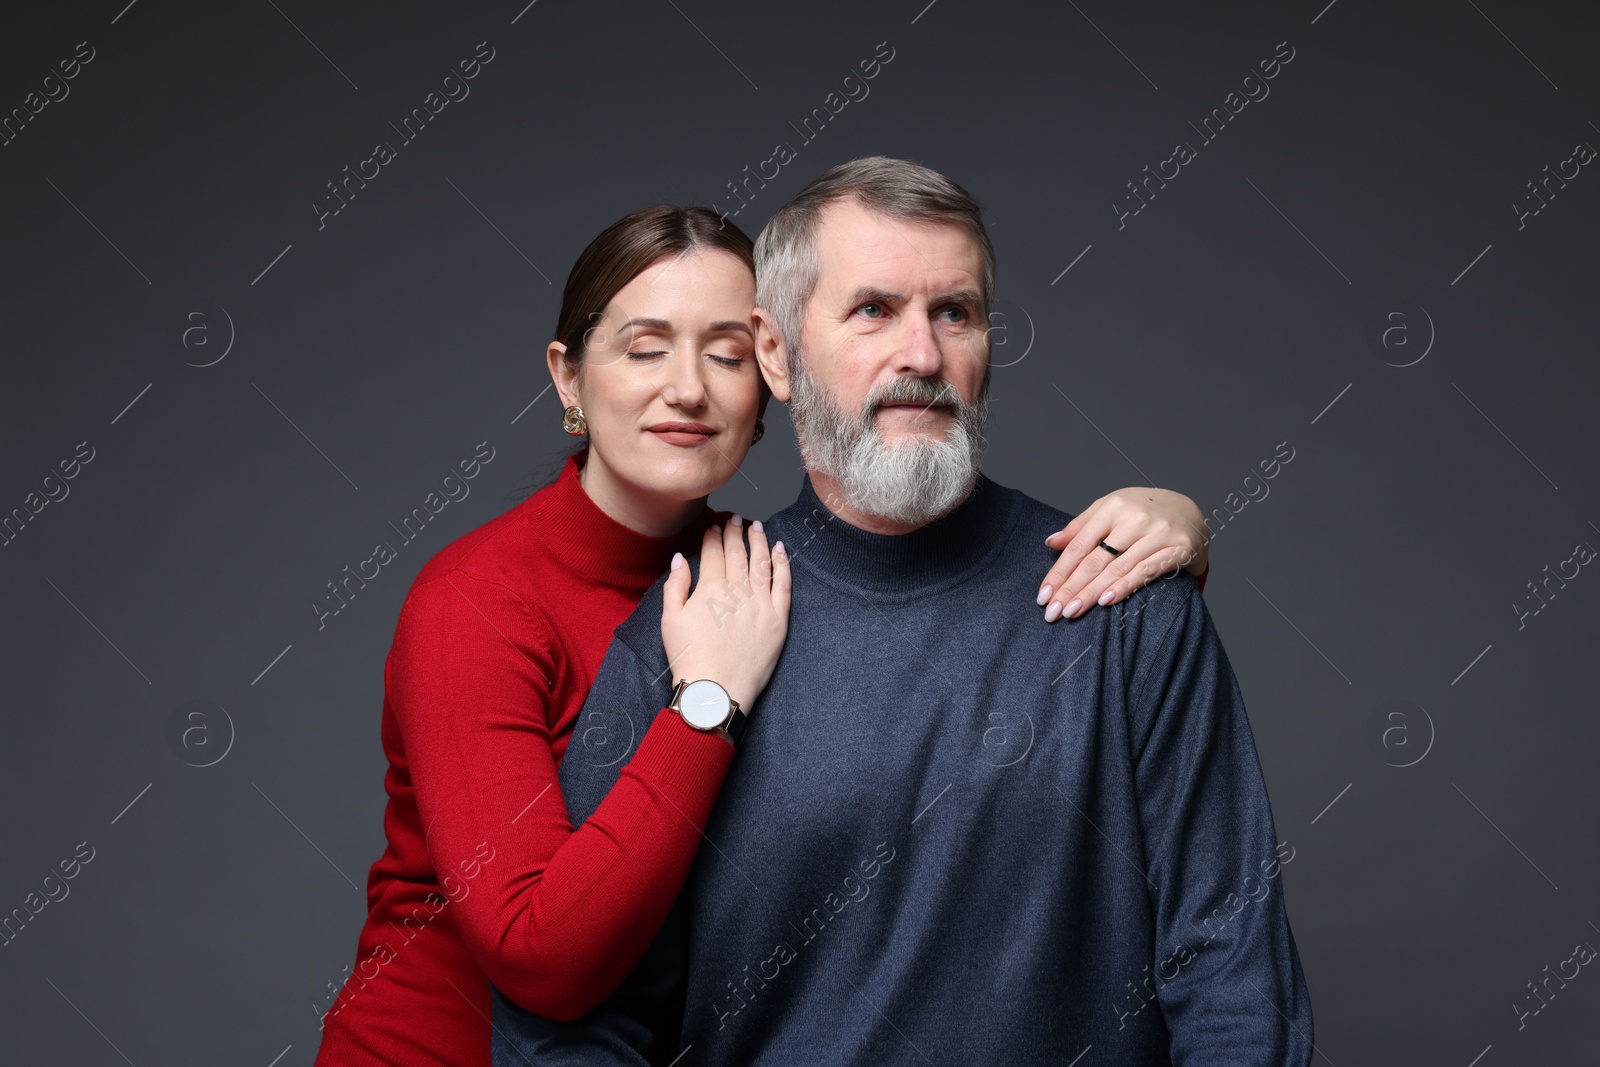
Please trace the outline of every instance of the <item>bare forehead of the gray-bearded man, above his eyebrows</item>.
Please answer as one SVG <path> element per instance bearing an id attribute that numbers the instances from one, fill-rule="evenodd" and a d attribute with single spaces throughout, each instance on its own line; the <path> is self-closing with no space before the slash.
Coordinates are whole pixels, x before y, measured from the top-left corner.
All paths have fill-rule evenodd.
<path id="1" fill-rule="evenodd" d="M 982 250 L 960 222 L 896 219 L 835 200 L 818 218 L 819 282 L 832 286 L 861 283 L 976 285 L 982 278 Z"/>

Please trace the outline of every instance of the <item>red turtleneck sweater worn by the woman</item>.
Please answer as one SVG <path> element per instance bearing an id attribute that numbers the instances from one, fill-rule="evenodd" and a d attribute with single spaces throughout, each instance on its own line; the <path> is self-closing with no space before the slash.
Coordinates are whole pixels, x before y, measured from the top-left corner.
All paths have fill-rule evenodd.
<path id="1" fill-rule="evenodd" d="M 688 875 L 726 741 L 630 710 L 637 753 L 576 832 L 555 768 L 611 630 L 714 514 L 674 539 L 638 534 L 589 499 L 582 459 L 435 555 L 400 608 L 384 664 L 389 846 L 318 1067 L 486 1067 L 488 981 L 578 1017 L 634 968 Z M 621 755 L 626 723 L 608 726 Z"/>

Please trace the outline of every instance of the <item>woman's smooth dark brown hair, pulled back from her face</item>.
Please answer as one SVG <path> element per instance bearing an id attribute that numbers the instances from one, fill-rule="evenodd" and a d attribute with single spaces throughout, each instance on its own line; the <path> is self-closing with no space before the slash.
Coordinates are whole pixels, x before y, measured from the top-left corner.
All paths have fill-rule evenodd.
<path id="1" fill-rule="evenodd" d="M 731 253 L 755 275 L 750 238 L 710 208 L 658 203 L 624 214 L 589 242 L 562 290 L 555 339 L 566 346 L 570 366 L 582 363 L 589 330 L 622 286 L 664 256 L 717 250 Z"/>

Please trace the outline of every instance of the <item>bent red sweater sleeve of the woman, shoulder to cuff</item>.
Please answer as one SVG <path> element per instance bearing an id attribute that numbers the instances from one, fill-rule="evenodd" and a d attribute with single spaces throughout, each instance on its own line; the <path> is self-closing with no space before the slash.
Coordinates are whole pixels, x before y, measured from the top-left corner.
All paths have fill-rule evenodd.
<path id="1" fill-rule="evenodd" d="M 571 1021 L 666 921 L 733 747 L 675 712 L 630 712 L 638 749 L 574 832 L 550 731 L 552 693 L 573 667 L 547 625 L 499 584 L 461 571 L 424 582 L 400 613 L 390 697 L 467 952 L 528 1011 Z"/>

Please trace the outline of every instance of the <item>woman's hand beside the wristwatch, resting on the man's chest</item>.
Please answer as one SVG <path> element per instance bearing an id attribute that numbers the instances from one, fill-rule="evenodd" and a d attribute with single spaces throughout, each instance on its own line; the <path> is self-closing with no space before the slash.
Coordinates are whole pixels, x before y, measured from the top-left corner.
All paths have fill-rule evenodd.
<path id="1" fill-rule="evenodd" d="M 789 637 L 789 553 L 782 541 L 766 547 L 762 523 L 712 526 L 701 542 L 699 584 L 690 593 L 690 568 L 672 557 L 661 605 L 661 643 L 674 678 L 710 678 L 746 712 L 766 688 Z"/>

